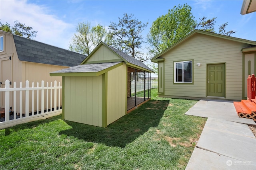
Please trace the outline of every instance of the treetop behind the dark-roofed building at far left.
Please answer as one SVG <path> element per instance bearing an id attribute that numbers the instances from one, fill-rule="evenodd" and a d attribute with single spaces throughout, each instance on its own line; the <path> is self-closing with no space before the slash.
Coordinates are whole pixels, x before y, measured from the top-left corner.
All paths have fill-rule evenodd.
<path id="1" fill-rule="evenodd" d="M 10 24 L 3 24 L 0 22 L 0 30 L 6 31 L 8 33 L 20 35 L 26 38 L 36 37 L 38 31 L 33 31 L 32 27 L 26 26 L 25 23 L 20 23 L 19 21 L 14 21 L 14 26 L 10 27 Z"/>

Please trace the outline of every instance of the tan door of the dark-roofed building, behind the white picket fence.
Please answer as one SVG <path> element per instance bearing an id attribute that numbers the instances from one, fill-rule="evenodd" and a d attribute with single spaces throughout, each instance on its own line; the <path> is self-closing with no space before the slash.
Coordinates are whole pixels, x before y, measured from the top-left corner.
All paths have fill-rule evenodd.
<path id="1" fill-rule="evenodd" d="M 10 57 L 4 57 L 0 59 L 0 86 L 1 88 L 5 88 L 5 81 L 12 81 L 12 60 Z M 12 85 L 10 85 L 12 87 Z M 1 107 L 5 108 L 5 93 L 1 92 Z M 10 102 L 12 102 L 12 95 L 10 93 Z M 12 106 L 12 103 L 10 103 Z"/>

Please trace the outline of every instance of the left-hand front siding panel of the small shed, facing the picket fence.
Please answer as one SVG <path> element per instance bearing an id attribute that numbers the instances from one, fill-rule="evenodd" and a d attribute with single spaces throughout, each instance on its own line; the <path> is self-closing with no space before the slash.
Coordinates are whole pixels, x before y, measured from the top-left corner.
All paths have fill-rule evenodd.
<path id="1" fill-rule="evenodd" d="M 65 120 L 102 126 L 102 75 L 65 76 Z"/>

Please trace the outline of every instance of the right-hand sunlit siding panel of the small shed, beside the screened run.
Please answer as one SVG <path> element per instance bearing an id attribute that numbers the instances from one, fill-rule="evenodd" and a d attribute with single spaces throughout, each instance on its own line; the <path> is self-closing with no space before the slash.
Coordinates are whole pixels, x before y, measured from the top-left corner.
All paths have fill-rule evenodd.
<path id="1" fill-rule="evenodd" d="M 126 65 L 108 72 L 107 125 L 126 114 Z"/>

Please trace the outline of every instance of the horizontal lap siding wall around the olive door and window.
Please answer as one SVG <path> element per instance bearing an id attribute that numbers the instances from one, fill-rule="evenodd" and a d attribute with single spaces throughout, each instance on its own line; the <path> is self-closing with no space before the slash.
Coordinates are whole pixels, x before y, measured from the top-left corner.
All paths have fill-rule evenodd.
<path id="1" fill-rule="evenodd" d="M 164 96 L 206 97 L 206 64 L 226 63 L 226 99 L 242 99 L 242 53 L 248 44 L 196 34 L 165 53 Z M 193 84 L 173 84 L 174 61 L 193 60 Z M 201 63 L 198 67 L 196 63 Z"/>

